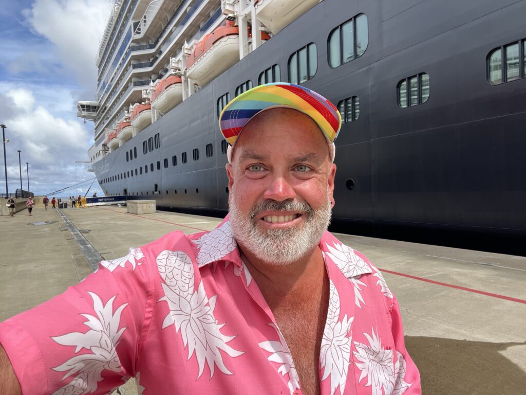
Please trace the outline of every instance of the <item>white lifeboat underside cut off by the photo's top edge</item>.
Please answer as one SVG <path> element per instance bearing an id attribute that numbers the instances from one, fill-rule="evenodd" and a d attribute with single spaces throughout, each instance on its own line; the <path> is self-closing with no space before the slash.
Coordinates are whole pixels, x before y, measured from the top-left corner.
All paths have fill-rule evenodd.
<path id="1" fill-rule="evenodd" d="M 272 32 L 282 28 L 305 14 L 320 0 L 256 0 L 256 16 Z"/>

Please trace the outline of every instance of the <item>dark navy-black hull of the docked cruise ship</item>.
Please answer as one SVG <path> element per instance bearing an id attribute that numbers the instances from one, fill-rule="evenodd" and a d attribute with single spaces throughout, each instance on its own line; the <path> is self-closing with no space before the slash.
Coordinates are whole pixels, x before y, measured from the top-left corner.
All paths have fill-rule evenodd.
<path id="1" fill-rule="evenodd" d="M 367 50 L 331 68 L 331 30 L 360 13 L 368 18 Z M 94 163 L 94 171 L 106 195 L 155 199 L 169 210 L 226 213 L 217 99 L 227 92 L 233 97 L 245 81 L 257 84 L 259 73 L 274 64 L 287 82 L 290 54 L 315 43 L 317 72 L 304 85 L 335 104 L 360 98 L 358 120 L 343 124 L 337 140 L 333 222 L 522 237 L 526 78 L 490 84 L 487 57 L 493 48 L 526 38 L 524 15 L 526 1 L 325 0 Z M 419 73 L 429 75 L 429 100 L 400 108 L 397 83 Z M 143 142 L 157 133 L 159 149 L 143 154 Z M 210 143 L 213 155 L 207 157 Z M 137 157 L 126 161 L 134 148 Z M 147 174 L 135 175 L 145 166 Z"/>

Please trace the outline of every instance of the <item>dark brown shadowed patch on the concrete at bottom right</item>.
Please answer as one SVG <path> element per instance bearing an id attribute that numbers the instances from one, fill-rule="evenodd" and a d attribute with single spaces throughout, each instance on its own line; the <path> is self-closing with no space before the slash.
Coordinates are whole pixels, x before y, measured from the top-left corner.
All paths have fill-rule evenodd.
<path id="1" fill-rule="evenodd" d="M 427 337 L 406 337 L 425 395 L 523 395 L 526 372 L 502 356 L 523 343 L 487 343 Z"/>

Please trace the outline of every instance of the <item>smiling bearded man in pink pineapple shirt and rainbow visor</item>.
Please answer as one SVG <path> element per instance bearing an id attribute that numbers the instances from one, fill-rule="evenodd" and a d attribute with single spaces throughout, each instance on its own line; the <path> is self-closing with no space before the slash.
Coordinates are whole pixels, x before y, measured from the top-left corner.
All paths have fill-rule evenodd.
<path id="1" fill-rule="evenodd" d="M 134 376 L 145 395 L 419 394 L 395 297 L 326 231 L 340 125 L 332 104 L 296 85 L 230 102 L 229 216 L 102 261 L 0 324 L 23 392 L 104 394 Z M 0 388 L 14 390 L 0 392 L 17 393 L 3 360 Z"/>

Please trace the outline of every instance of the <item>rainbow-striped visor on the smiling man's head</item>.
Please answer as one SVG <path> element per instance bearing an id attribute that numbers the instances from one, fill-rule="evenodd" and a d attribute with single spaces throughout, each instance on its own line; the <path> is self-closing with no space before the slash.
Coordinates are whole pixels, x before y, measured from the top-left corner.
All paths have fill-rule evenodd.
<path id="1" fill-rule="evenodd" d="M 235 97 L 219 116 L 219 129 L 231 146 L 236 144 L 243 127 L 259 112 L 269 107 L 290 107 L 312 118 L 329 145 L 341 128 L 341 115 L 325 97 L 294 84 L 276 82 L 259 85 Z"/>

